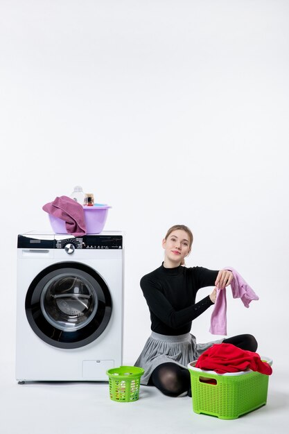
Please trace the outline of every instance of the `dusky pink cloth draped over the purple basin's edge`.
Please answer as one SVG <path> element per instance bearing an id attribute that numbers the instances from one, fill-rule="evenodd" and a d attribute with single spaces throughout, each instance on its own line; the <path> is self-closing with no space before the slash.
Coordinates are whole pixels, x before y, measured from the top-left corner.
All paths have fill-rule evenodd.
<path id="1" fill-rule="evenodd" d="M 55 198 L 53 202 L 46 203 L 42 209 L 52 216 L 64 220 L 68 234 L 82 236 L 87 233 L 85 211 L 82 205 L 75 200 L 67 196 L 60 196 Z"/>

